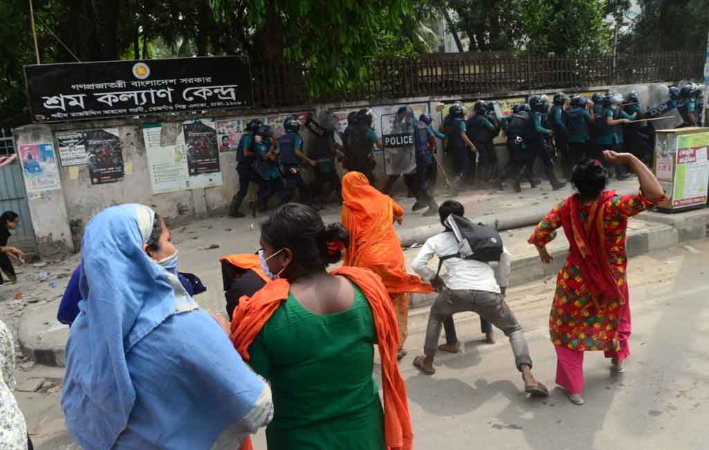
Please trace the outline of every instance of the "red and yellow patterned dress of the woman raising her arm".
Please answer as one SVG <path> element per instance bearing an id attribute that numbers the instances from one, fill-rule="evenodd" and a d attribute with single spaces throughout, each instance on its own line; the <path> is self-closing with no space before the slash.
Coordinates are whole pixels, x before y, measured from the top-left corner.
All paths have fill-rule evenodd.
<path id="1" fill-rule="evenodd" d="M 556 237 L 555 230 L 559 227 L 564 227 L 569 240 L 569 256 L 557 276 L 557 291 L 549 315 L 549 334 L 552 342 L 579 351 L 606 351 L 607 356 L 614 356 L 615 352 L 623 351 L 627 356 L 630 354 L 627 350 L 630 309 L 627 303 L 625 274 L 627 220 L 652 208 L 653 204 L 644 198 L 642 193 L 619 197 L 614 192 L 604 192 L 596 203 L 598 204 L 593 205 L 596 209 L 591 210 L 591 205 L 584 205 L 576 196 L 566 198 L 537 225 L 528 242 L 547 244 Z M 576 211 L 578 215 L 572 211 Z M 589 215 L 596 220 L 591 220 Z M 574 222 L 576 227 L 572 227 Z M 592 236 L 594 232 L 596 235 Z M 581 242 L 579 235 L 583 235 Z M 578 245 L 579 243 L 581 245 Z M 600 280 L 602 276 L 599 276 L 599 272 L 593 273 L 593 276 L 584 274 L 584 257 L 588 255 L 582 256 L 583 252 L 579 251 L 579 248 L 585 249 L 586 254 L 595 253 L 596 255 L 592 256 L 597 258 L 596 262 L 601 266 L 599 270 L 606 269 L 605 274 L 612 280 L 610 283 L 615 283 L 616 286 L 609 283 L 612 289 L 605 291 L 605 295 L 594 295 L 591 292 L 598 292 L 598 284 L 601 282 L 596 280 Z M 588 283 L 596 284 L 589 287 Z M 611 294 L 608 295 L 608 292 Z"/>

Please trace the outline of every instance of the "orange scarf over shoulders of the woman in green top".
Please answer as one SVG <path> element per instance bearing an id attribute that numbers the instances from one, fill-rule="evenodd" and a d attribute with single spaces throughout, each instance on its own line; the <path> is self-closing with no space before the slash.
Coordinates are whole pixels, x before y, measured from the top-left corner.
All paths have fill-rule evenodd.
<path id="1" fill-rule="evenodd" d="M 381 359 L 381 389 L 384 392 L 384 439 L 389 450 L 412 450 L 413 430 L 408 412 L 406 383 L 399 371 L 396 351 L 398 349 L 398 325 L 389 294 L 379 276 L 366 269 L 342 267 L 332 271 L 362 289 L 372 309 L 376 328 L 377 347 Z M 281 302 L 288 298 L 290 284 L 285 279 L 268 283 L 252 298 L 242 298 L 231 322 L 234 348 L 245 361 L 249 361 L 249 346 L 261 332 L 264 324 L 276 312 Z M 247 438 L 241 450 L 251 450 Z"/>

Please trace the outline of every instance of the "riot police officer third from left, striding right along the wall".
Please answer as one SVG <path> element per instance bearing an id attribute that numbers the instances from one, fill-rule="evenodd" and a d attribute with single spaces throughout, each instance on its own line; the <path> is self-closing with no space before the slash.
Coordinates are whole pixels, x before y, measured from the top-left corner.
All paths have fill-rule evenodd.
<path id="1" fill-rule="evenodd" d="M 298 133 L 301 130 L 300 121 L 294 116 L 288 116 L 283 122 L 283 128 L 286 133 L 277 140 L 277 154 L 281 165 L 281 174 L 285 183 L 284 189 L 281 191 L 280 205 L 290 203 L 293 199 L 293 194 L 298 188 L 301 196 L 301 201 L 304 204 L 322 209 L 319 206 L 313 205 L 311 191 L 308 185 L 301 176 L 300 164 L 306 162 L 311 167 L 316 166 L 313 159 L 308 158 L 303 153 L 303 138 Z"/>

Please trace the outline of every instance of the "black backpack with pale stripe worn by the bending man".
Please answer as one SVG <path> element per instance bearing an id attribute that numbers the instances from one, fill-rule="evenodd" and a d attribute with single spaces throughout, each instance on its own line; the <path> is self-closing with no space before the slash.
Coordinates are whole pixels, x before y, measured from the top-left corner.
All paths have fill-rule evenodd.
<path id="1" fill-rule="evenodd" d="M 451 214 L 445 220 L 447 231 L 455 235 L 459 247 L 458 252 L 438 257 L 438 270 L 440 273 L 443 261 L 451 258 L 474 259 L 475 261 L 491 262 L 500 261 L 503 253 L 503 242 L 500 233 L 493 228 L 481 223 L 474 224 L 459 215 Z"/>

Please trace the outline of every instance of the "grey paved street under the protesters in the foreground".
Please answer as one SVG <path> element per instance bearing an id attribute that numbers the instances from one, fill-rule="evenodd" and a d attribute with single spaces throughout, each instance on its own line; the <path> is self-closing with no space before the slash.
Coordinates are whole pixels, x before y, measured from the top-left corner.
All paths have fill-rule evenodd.
<path id="1" fill-rule="evenodd" d="M 472 314 L 456 316 L 464 353 L 437 355 L 437 373 L 421 375 L 411 361 L 423 349 L 428 308 L 413 310 L 409 354 L 401 369 L 415 449 L 705 449 L 707 254 L 709 241 L 699 240 L 630 260 L 633 333 L 627 371 L 611 376 L 600 352 L 586 354 L 586 404 L 580 407 L 558 389 L 548 399 L 526 398 L 506 339 L 498 332 L 497 344 L 482 342 Z M 549 389 L 555 371 L 547 337 L 553 290 L 554 279 L 547 277 L 508 293 L 508 303 L 530 341 L 535 376 Z M 18 369 L 18 383 L 37 367 Z M 16 395 L 36 449 L 77 449 L 63 429 L 59 393 Z M 255 449 L 266 449 L 263 432 L 255 438 Z"/>

